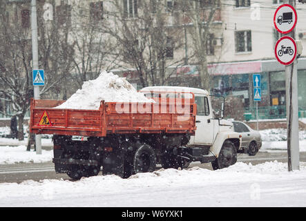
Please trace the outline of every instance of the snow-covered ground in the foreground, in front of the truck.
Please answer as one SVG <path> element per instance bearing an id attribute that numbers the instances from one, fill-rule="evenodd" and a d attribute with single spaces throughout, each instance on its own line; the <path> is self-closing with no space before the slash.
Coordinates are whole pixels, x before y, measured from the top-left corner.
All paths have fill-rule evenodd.
<path id="1" fill-rule="evenodd" d="M 98 175 L 0 184 L 0 206 L 306 206 L 306 163 L 253 166 L 238 162 L 210 171 L 160 169 L 128 179 Z"/>

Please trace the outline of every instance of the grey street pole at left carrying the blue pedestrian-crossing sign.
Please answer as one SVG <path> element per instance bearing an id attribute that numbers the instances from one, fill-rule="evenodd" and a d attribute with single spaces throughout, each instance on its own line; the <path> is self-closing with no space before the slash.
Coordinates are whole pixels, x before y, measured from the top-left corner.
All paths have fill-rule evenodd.
<path id="1" fill-rule="evenodd" d="M 36 0 L 31 1 L 32 69 L 39 69 Z M 39 99 L 39 86 L 34 86 L 34 99 Z M 36 154 L 41 154 L 41 135 L 35 135 Z"/>

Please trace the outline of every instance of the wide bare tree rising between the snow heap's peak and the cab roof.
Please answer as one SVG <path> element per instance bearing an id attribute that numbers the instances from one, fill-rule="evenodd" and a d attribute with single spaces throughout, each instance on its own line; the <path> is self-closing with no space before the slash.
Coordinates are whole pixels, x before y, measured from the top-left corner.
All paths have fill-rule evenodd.
<path id="1" fill-rule="evenodd" d="M 172 10 L 167 14 L 164 7 L 160 0 L 109 3 L 104 31 L 115 39 L 118 59 L 136 70 L 143 87 L 166 84 L 168 67 L 182 64 L 181 58 L 173 57 L 182 46 L 182 31 L 169 24 Z"/>

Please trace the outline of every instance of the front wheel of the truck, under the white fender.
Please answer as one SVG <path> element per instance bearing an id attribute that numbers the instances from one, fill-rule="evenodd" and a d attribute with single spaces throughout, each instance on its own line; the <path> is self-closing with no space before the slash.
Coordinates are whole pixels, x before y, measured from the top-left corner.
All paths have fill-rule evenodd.
<path id="1" fill-rule="evenodd" d="M 213 170 L 223 169 L 237 162 L 237 150 L 232 142 L 225 141 L 216 160 L 211 162 Z"/>

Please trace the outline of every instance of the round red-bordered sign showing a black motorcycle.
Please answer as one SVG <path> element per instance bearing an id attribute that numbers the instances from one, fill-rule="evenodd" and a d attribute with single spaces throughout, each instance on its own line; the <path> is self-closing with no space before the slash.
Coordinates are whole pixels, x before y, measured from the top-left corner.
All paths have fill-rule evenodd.
<path id="1" fill-rule="evenodd" d="M 275 57 L 283 65 L 290 65 L 296 59 L 296 41 L 289 36 L 278 39 L 275 45 Z"/>

